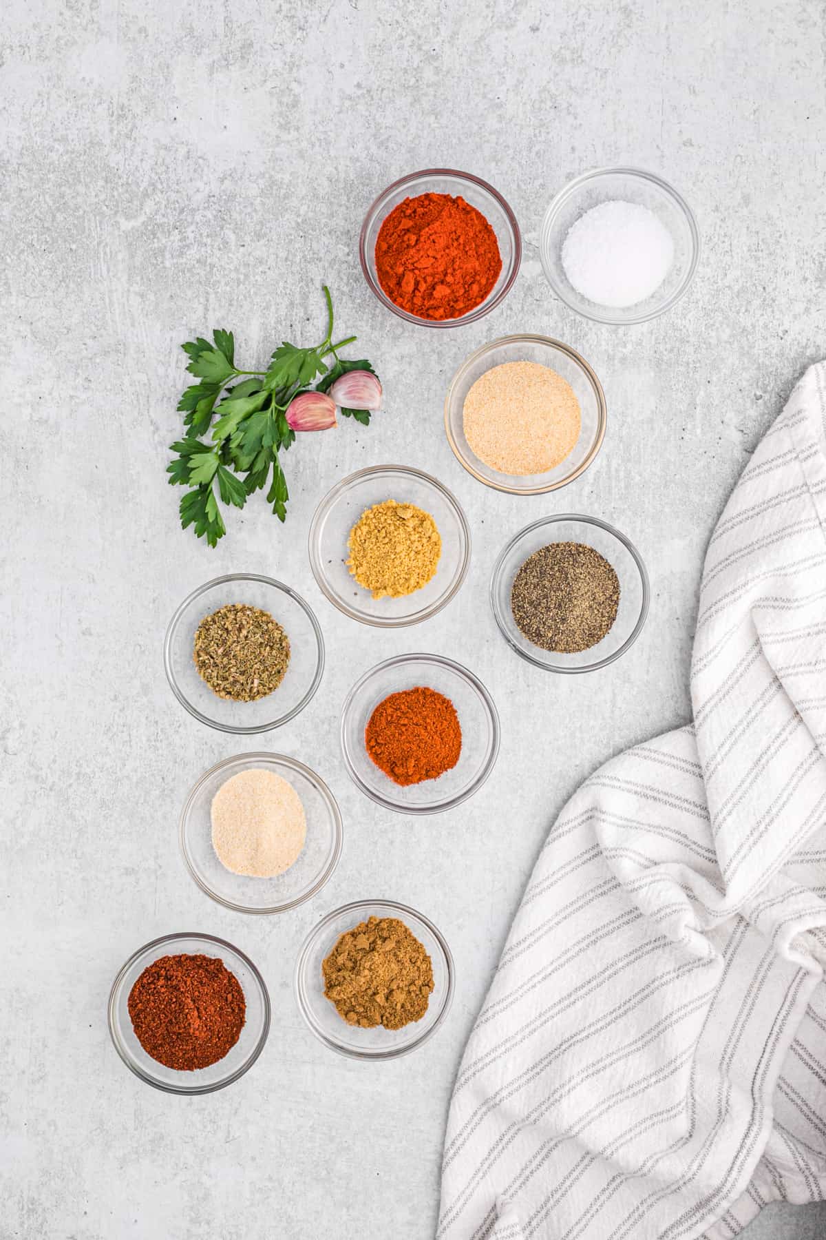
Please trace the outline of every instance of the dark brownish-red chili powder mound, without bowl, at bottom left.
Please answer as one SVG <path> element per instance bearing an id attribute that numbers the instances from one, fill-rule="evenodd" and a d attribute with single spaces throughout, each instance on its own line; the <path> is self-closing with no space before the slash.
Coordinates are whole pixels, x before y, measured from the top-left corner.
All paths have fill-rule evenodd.
<path id="1" fill-rule="evenodd" d="M 232 1050 L 244 1027 L 240 982 L 212 956 L 161 956 L 129 992 L 135 1037 L 166 1068 L 208 1068 Z"/>

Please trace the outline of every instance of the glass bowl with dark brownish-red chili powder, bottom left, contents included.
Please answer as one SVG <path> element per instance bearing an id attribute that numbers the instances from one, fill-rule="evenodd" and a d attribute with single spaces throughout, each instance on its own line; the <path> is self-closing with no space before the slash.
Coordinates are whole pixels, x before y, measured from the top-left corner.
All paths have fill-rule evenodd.
<path id="1" fill-rule="evenodd" d="M 270 997 L 253 961 L 206 934 L 140 947 L 109 994 L 115 1050 L 147 1085 L 212 1094 L 246 1073 L 270 1030 Z"/>

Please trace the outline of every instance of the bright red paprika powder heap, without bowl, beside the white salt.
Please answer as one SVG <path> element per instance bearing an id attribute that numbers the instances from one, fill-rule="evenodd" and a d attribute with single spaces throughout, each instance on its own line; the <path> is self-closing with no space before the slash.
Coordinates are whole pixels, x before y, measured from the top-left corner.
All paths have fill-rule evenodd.
<path id="1" fill-rule="evenodd" d="M 379 228 L 379 284 L 420 319 L 459 319 L 480 305 L 499 279 L 497 234 L 480 211 L 450 193 L 405 198 Z"/>

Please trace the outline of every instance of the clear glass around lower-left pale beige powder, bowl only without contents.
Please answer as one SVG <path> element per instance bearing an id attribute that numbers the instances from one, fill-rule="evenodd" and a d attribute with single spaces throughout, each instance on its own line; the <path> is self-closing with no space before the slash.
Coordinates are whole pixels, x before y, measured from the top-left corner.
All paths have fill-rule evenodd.
<path id="1" fill-rule="evenodd" d="M 269 770 L 293 786 L 305 808 L 307 838 L 295 864 L 275 878 L 234 874 L 212 846 L 212 800 L 233 775 Z M 321 776 L 284 754 L 239 754 L 206 771 L 181 811 L 181 852 L 202 892 L 237 913 L 285 913 L 322 889 L 342 854 L 342 816 Z"/>

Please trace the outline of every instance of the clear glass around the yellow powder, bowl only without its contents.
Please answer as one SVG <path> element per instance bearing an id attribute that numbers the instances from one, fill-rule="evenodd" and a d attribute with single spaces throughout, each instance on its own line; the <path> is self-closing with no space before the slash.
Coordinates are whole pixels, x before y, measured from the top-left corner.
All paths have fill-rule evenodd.
<path id="1" fill-rule="evenodd" d="M 384 500 L 430 512 L 442 537 L 431 580 L 401 599 L 374 599 L 347 567 L 347 538 L 365 508 Z M 376 465 L 350 474 L 321 501 L 310 525 L 310 567 L 339 611 L 362 624 L 399 629 L 436 615 L 450 603 L 471 563 L 471 531 L 457 501 L 441 482 L 406 465 Z"/>

